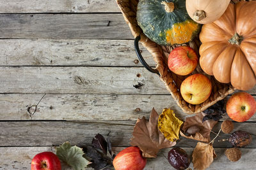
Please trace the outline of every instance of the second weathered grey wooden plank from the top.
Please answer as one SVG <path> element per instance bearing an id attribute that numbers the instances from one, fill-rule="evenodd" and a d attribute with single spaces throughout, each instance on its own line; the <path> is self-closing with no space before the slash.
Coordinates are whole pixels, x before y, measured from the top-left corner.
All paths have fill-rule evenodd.
<path id="1" fill-rule="evenodd" d="M 0 14 L 0 38 L 134 39 L 120 13 Z"/>

